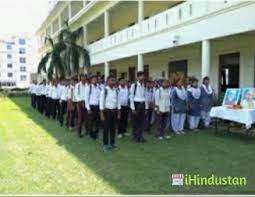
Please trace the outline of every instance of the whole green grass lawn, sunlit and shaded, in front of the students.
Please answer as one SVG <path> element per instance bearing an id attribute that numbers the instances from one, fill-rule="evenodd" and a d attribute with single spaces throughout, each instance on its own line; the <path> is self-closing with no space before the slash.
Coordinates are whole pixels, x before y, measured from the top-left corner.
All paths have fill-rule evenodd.
<path id="1" fill-rule="evenodd" d="M 255 143 L 242 136 L 188 133 L 146 144 L 101 141 L 61 128 L 28 98 L 0 98 L 0 194 L 253 193 Z M 171 186 L 171 174 L 242 176 L 246 186 Z"/>

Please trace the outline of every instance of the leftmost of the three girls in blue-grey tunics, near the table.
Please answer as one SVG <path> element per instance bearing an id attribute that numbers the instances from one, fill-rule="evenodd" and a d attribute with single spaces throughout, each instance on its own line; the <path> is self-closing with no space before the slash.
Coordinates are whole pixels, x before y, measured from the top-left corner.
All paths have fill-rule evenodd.
<path id="1" fill-rule="evenodd" d="M 184 123 L 187 112 L 187 92 L 183 87 L 183 77 L 178 74 L 173 76 L 173 85 L 171 114 L 172 129 L 177 135 L 185 134 Z"/>

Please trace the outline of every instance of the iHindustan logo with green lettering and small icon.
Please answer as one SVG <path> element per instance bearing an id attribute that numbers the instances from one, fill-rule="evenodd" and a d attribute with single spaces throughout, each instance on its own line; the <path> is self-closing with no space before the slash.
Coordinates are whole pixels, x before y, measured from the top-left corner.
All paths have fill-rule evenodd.
<path id="1" fill-rule="evenodd" d="M 247 184 L 245 177 L 232 177 L 232 176 L 200 176 L 189 174 L 172 174 L 172 185 L 197 185 L 197 186 L 217 186 L 217 185 L 233 185 L 243 186 Z"/>

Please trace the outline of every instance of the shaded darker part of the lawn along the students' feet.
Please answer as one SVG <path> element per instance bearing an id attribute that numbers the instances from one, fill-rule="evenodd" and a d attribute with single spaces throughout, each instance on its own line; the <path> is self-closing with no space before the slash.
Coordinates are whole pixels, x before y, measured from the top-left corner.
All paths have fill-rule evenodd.
<path id="1" fill-rule="evenodd" d="M 65 147 L 122 194 L 234 193 L 237 191 L 231 187 L 211 187 L 209 190 L 195 186 L 172 187 L 170 177 L 172 173 L 209 175 L 213 172 L 229 175 L 231 170 L 239 169 L 229 168 L 231 160 L 238 159 L 240 167 L 244 166 L 245 158 L 235 153 L 238 151 L 237 147 L 241 151 L 254 150 L 254 146 L 246 144 L 239 135 L 229 138 L 221 134 L 220 137 L 215 137 L 212 132 L 201 132 L 162 142 L 150 135 L 147 136 L 146 144 L 134 144 L 129 137 L 117 141 L 118 150 L 105 154 L 102 151 L 101 139 L 93 141 L 87 136 L 79 139 L 76 133 L 60 127 L 58 122 L 48 120 L 32 109 L 27 97 L 11 100 L 37 125 L 57 139 L 60 146 Z M 254 154 L 253 151 L 248 153 Z M 247 173 L 247 176 L 250 174 L 255 177 L 249 169 L 246 170 L 247 168 L 242 167 L 240 173 L 243 173 L 243 176 Z M 253 190 L 251 186 L 242 192 L 249 193 Z"/>

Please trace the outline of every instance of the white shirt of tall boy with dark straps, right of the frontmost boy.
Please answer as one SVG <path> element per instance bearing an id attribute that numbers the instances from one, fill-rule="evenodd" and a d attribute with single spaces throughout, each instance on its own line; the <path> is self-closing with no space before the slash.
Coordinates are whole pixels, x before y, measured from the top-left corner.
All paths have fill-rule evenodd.
<path id="1" fill-rule="evenodd" d="M 145 86 L 140 82 L 136 82 L 136 92 L 135 92 L 135 84 L 132 84 L 130 87 L 130 108 L 135 110 L 134 102 L 144 102 L 145 109 L 148 109 L 148 102 L 145 99 Z"/>

